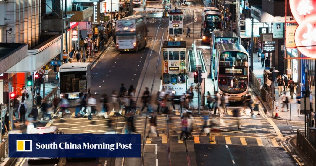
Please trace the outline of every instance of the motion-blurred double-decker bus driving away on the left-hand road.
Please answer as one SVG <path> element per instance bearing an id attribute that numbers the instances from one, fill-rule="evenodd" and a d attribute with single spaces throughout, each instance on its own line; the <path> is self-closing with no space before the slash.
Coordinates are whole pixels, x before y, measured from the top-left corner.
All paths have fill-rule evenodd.
<path id="1" fill-rule="evenodd" d="M 116 49 L 118 51 L 137 51 L 147 45 L 146 17 L 131 15 L 117 21 Z"/>

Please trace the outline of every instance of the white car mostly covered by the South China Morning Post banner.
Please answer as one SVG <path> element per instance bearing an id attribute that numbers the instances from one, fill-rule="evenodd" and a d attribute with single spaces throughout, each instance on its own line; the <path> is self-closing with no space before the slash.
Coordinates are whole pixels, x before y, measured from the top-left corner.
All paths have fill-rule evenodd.
<path id="1" fill-rule="evenodd" d="M 49 127 L 35 127 L 31 130 L 30 134 L 64 134 L 64 132 L 60 132 L 56 126 Z M 40 160 L 59 160 L 59 158 L 52 157 L 27 157 L 27 163 L 31 164 L 35 161 Z"/>

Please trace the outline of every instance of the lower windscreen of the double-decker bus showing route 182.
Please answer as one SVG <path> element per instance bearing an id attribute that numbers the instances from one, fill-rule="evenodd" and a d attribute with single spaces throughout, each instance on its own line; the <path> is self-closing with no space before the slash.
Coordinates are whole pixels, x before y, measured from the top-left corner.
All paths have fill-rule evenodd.
<path id="1" fill-rule="evenodd" d="M 225 93 L 241 93 L 247 89 L 248 77 L 219 76 L 218 87 Z"/>

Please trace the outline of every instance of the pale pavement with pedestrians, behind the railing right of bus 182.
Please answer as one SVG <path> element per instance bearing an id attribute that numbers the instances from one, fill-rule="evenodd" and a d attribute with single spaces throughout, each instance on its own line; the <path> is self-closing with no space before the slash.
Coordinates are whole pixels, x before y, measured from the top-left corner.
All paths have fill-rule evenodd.
<path id="1" fill-rule="evenodd" d="M 257 58 L 257 52 L 253 54 L 253 73 L 254 75 L 261 80 L 263 79 L 263 67 L 261 67 L 261 62 L 258 62 L 258 58 Z M 276 75 L 276 77 L 278 77 Z M 261 83 L 263 83 L 263 81 L 261 81 Z M 290 99 L 289 102 L 289 108 L 291 108 L 291 110 L 288 112 L 286 106 L 284 106 L 285 108 L 283 108 L 282 112 L 282 107 L 283 107 L 283 102 L 282 102 L 282 98 L 279 96 L 279 89 L 277 89 L 277 84 L 275 83 L 275 94 L 276 94 L 276 101 L 278 102 L 278 114 L 280 116 L 280 118 L 277 119 L 283 119 L 283 120 L 290 120 L 292 117 L 292 120 L 294 121 L 304 121 L 304 116 L 303 115 L 299 115 L 297 114 L 297 110 L 300 109 L 300 105 L 297 104 L 297 100 L 296 100 L 296 94 L 294 93 L 293 95 L 293 99 Z M 289 88 L 288 91 L 285 91 L 286 95 L 289 96 L 290 98 L 290 92 L 289 92 Z M 296 92 L 296 89 L 294 89 L 294 92 Z M 275 116 L 275 110 L 269 110 L 272 116 Z M 291 116 L 290 116 L 290 112 L 291 112 Z"/>

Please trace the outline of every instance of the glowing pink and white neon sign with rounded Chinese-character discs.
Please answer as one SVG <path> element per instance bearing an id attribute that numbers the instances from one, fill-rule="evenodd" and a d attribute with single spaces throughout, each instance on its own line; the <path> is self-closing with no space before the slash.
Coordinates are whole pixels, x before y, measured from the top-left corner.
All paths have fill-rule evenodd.
<path id="1" fill-rule="evenodd" d="M 299 24 L 294 34 L 297 49 L 316 58 L 316 0 L 290 0 L 290 9 Z"/>

